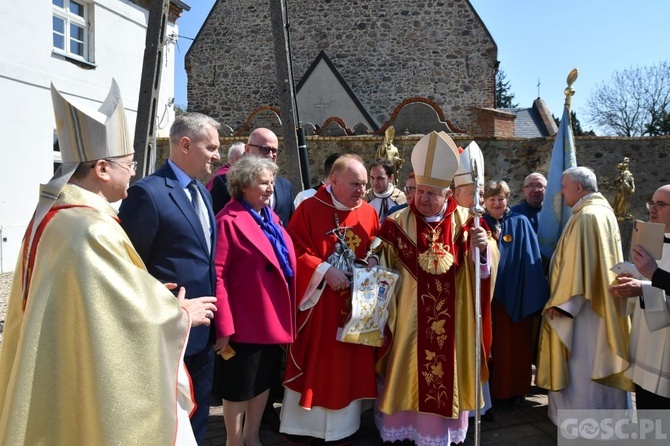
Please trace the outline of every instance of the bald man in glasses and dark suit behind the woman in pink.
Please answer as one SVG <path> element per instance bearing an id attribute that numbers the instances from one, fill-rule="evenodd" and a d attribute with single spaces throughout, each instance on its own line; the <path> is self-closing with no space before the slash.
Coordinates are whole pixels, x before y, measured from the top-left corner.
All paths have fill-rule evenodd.
<path id="1" fill-rule="evenodd" d="M 262 156 L 273 163 L 277 162 L 279 153 L 279 140 L 277 135 L 270 129 L 259 127 L 249 135 L 247 144 L 244 147 L 245 155 Z M 225 175 L 219 175 L 212 184 L 212 201 L 214 214 L 218 214 L 221 209 L 230 201 L 228 193 L 227 179 Z M 293 204 L 293 185 L 286 178 L 279 175 L 275 176 L 275 188 L 270 207 L 275 214 L 279 216 L 282 224 L 286 226 L 291 219 L 295 206 Z"/>

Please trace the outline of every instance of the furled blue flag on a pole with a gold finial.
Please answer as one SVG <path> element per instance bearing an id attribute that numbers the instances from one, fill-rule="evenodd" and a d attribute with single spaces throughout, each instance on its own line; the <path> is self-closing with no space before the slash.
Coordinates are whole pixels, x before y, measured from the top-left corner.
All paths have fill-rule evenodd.
<path id="1" fill-rule="evenodd" d="M 540 251 L 545 257 L 551 258 L 556 243 L 561 237 L 563 228 L 568 222 L 572 209 L 565 204 L 561 195 L 561 179 L 563 171 L 577 166 L 575 155 L 575 138 L 570 123 L 570 105 L 563 107 L 563 117 L 558 125 L 556 141 L 551 151 L 551 163 L 547 178 L 547 190 L 544 194 L 542 210 L 538 216 L 537 238 L 540 242 Z"/>

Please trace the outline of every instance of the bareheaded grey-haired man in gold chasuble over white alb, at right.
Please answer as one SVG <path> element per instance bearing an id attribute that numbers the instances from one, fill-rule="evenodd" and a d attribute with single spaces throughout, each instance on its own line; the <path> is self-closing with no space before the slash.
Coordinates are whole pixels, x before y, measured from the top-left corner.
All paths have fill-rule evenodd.
<path id="1" fill-rule="evenodd" d="M 572 216 L 551 259 L 551 297 L 543 313 L 536 384 L 549 390 L 549 418 L 560 409 L 625 409 L 630 320 L 626 302 L 608 292 L 621 237 L 595 174 L 566 170 L 562 194 Z"/>

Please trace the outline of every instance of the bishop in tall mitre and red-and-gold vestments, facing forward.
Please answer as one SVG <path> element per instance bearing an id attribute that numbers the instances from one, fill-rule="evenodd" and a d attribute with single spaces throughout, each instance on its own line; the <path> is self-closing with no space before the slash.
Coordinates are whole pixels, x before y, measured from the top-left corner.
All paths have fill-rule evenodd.
<path id="1" fill-rule="evenodd" d="M 378 428 L 384 441 L 459 443 L 481 385 L 475 353 L 486 358 L 491 341 L 490 321 L 483 321 L 482 345 L 475 345 L 473 245 L 482 253 L 482 306 L 490 303 L 498 249 L 490 232 L 475 229 L 468 209 L 451 197 L 458 149 L 449 136 L 426 135 L 413 149 L 412 167 L 415 199 L 386 218 L 374 251 L 380 265 L 401 275 L 389 309 L 390 342 L 378 363 Z"/>

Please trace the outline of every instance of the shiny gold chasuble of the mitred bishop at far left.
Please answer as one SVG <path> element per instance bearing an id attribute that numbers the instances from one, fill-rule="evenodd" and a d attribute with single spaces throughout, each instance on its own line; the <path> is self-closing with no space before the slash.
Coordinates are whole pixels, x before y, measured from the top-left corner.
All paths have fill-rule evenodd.
<path id="1" fill-rule="evenodd" d="M 51 210 L 25 292 L 25 253 L 15 270 L 0 444 L 181 444 L 178 408 L 193 408 L 181 362 L 188 316 L 146 272 L 104 198 L 68 184 Z"/>

